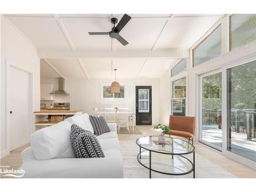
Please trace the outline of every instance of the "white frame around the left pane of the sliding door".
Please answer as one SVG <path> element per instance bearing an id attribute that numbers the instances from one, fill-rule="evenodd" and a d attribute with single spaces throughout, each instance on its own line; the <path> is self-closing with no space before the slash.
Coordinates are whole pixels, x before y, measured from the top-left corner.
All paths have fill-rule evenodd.
<path id="1" fill-rule="evenodd" d="M 202 139 L 202 120 L 203 120 L 203 117 L 202 117 L 202 78 L 203 77 L 206 77 L 206 76 L 209 76 L 209 75 L 212 75 L 212 74 L 216 74 L 216 73 L 220 73 L 222 72 L 221 69 L 217 69 L 217 70 L 213 70 L 213 71 L 209 71 L 209 72 L 206 72 L 206 73 L 202 73 L 202 74 L 198 74 L 198 117 L 199 117 L 199 120 L 198 120 L 198 133 L 197 133 L 197 140 L 207 146 L 210 146 L 212 148 L 215 148 L 216 150 L 220 151 L 220 152 L 223 152 L 223 136 L 224 136 L 224 129 L 223 129 L 223 73 L 221 73 L 221 86 L 222 86 L 222 89 L 221 89 L 221 98 L 222 98 L 222 105 L 221 105 L 221 111 L 222 111 L 222 146 L 217 146 L 215 144 L 212 144 L 210 142 L 207 142 L 205 140 Z"/>

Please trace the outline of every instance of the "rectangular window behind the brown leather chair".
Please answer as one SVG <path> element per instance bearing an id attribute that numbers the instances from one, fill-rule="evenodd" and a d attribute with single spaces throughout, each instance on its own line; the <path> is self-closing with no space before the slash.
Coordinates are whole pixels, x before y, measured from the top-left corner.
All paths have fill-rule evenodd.
<path id="1" fill-rule="evenodd" d="M 186 77 L 173 81 L 172 115 L 185 116 Z"/>

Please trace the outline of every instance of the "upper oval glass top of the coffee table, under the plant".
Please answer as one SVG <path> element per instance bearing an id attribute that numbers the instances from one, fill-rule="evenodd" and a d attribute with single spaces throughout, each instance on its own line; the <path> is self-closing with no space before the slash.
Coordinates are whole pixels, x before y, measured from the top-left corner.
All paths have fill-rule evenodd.
<path id="1" fill-rule="evenodd" d="M 195 151 L 193 144 L 172 137 L 165 137 L 164 145 L 158 144 L 158 136 L 141 137 L 136 143 L 145 150 L 163 154 L 184 155 Z"/>

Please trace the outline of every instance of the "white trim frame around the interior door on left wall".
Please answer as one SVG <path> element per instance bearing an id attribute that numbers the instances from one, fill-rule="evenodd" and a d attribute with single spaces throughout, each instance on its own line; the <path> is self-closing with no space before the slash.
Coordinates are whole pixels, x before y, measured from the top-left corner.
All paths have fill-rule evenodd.
<path id="1" fill-rule="evenodd" d="M 26 69 L 17 67 L 14 62 L 11 62 L 6 59 L 6 156 L 10 154 L 10 78 L 11 77 L 11 68 L 15 68 L 20 71 L 24 71 L 29 75 L 29 106 L 28 106 L 28 138 L 33 133 L 33 73 L 27 71 Z M 28 141 L 29 142 L 29 141 Z"/>

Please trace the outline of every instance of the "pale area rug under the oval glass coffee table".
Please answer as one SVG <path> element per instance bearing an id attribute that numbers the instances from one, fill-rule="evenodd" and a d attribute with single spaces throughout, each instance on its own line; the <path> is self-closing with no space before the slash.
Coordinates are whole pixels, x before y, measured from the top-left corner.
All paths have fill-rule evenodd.
<path id="1" fill-rule="evenodd" d="M 137 161 L 138 145 L 132 141 L 120 141 L 123 156 L 124 178 L 149 178 L 149 170 Z M 168 156 L 168 155 L 167 155 Z M 187 155 L 192 160 L 192 155 Z M 196 178 L 237 178 L 219 165 L 212 163 L 203 156 L 195 155 Z M 151 172 L 152 178 L 193 178 L 193 172 L 183 176 L 170 176 Z"/>

